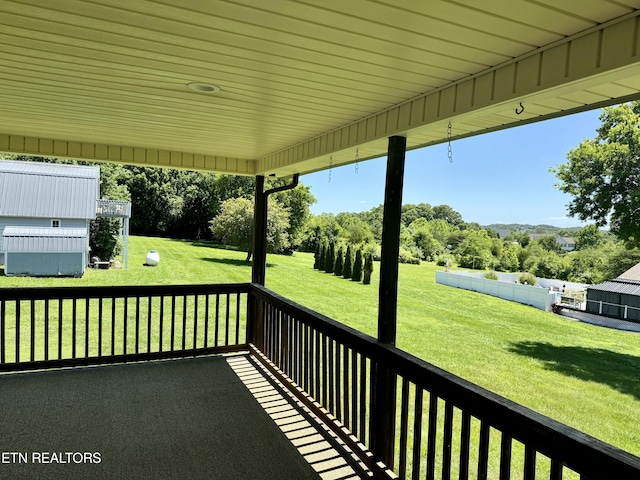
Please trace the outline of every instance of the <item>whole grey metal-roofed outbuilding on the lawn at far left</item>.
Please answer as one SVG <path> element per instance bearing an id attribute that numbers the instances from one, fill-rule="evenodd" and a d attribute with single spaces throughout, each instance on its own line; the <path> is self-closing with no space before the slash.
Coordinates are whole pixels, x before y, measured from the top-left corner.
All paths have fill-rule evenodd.
<path id="1" fill-rule="evenodd" d="M 5 274 L 82 275 L 99 194 L 97 167 L 0 161 Z"/>

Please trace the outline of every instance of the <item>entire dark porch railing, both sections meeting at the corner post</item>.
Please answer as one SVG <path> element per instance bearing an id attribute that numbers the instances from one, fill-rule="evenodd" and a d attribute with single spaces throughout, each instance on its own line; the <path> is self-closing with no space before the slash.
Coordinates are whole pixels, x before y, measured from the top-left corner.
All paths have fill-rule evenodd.
<path id="1" fill-rule="evenodd" d="M 0 289 L 0 371 L 246 349 L 376 476 L 384 372 L 398 385 L 384 441 L 401 478 L 640 478 L 640 458 L 259 285 Z"/>

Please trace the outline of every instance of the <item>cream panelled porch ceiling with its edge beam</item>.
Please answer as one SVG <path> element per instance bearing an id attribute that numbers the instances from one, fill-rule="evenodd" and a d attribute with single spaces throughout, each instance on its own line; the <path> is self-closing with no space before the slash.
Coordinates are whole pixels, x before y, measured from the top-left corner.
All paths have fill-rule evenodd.
<path id="1" fill-rule="evenodd" d="M 640 0 L 2 0 L 0 151 L 279 176 L 638 96 Z M 196 93 L 189 82 L 220 87 Z M 516 114 L 520 103 L 524 112 Z"/>

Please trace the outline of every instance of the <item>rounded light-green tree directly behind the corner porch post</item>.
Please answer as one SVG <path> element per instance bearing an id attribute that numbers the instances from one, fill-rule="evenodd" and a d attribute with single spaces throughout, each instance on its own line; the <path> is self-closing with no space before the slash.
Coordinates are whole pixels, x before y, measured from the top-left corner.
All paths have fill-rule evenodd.
<path id="1" fill-rule="evenodd" d="M 246 198 L 222 202 L 220 213 L 211 220 L 214 236 L 227 245 L 247 252 L 247 262 L 252 255 L 253 204 Z M 289 213 L 275 200 L 269 201 L 267 214 L 267 251 L 280 252 L 289 246 L 287 228 Z"/>

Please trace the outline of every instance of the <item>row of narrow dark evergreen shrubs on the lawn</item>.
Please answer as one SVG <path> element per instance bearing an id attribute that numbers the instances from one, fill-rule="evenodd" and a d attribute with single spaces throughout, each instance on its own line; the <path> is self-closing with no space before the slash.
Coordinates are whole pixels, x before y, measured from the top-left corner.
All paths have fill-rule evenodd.
<path id="1" fill-rule="evenodd" d="M 346 252 L 342 246 L 336 252 L 336 244 L 334 242 L 323 243 L 318 245 L 314 258 L 313 268 L 316 270 L 333 273 L 338 277 L 350 278 L 355 282 L 362 280 L 364 284 L 371 283 L 373 255 L 371 253 L 363 254 L 360 248 L 356 250 L 354 255 L 351 245 L 347 245 Z"/>

